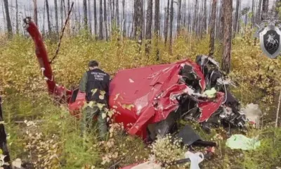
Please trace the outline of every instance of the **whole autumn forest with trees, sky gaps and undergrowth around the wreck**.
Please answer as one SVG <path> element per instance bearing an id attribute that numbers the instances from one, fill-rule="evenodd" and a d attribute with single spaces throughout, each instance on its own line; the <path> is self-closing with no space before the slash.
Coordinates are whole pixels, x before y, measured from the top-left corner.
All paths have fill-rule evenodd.
<path id="1" fill-rule="evenodd" d="M 281 168 L 281 57 L 266 56 L 259 37 L 263 25 L 279 26 L 280 0 L 0 1 L 0 125 L 6 130 L 11 168 L 118 168 L 152 156 L 169 163 L 187 151 L 169 136 L 146 144 L 118 123 L 110 124 L 106 141 L 98 140 L 97 130 L 79 137 L 80 121 L 67 103 L 48 92 L 27 17 L 41 33 L 51 78 L 71 90 L 79 86 L 90 60 L 114 80 L 119 70 L 195 61 L 199 55 L 213 58 L 235 84 L 229 90 L 240 104 L 259 105 L 259 127 L 249 126 L 244 135 L 261 145 L 230 149 L 223 127 L 207 134 L 199 123 L 178 120 L 217 144 L 214 158 L 202 161 L 200 168 Z M 6 169 L 4 155 L 1 149 L 0 168 Z"/>

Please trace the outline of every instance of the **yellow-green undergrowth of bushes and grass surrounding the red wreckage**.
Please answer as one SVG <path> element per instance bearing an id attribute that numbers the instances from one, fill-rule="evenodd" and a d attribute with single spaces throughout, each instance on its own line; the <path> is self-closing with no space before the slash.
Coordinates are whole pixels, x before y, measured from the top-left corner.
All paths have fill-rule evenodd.
<path id="1" fill-rule="evenodd" d="M 45 39 L 49 57 L 53 57 L 57 44 Z M 155 41 L 152 41 L 155 44 Z M 152 45 L 152 46 L 153 46 Z M 145 45 L 130 39 L 119 40 L 113 35 L 109 42 L 95 41 L 83 34 L 63 39 L 60 53 L 52 64 L 55 81 L 67 88 L 77 87 L 89 60 L 96 59 L 100 67 L 114 77 L 118 70 L 145 65 L 171 63 L 199 54 L 208 54 L 209 36 L 195 39 L 178 37 L 173 44 L 173 54 L 158 45 L 145 54 Z M 141 52 L 139 48 L 141 47 Z M 219 42 L 215 58 L 221 61 Z M 86 139 L 79 137 L 79 121 L 64 106 L 53 103 L 46 94 L 46 84 L 34 56 L 31 39 L 0 37 L 0 92 L 3 96 L 4 119 L 8 131 L 8 143 L 13 159 L 32 161 L 37 168 L 109 168 L 116 163 L 129 165 L 145 161 L 155 154 L 157 160 L 173 161 L 183 158 L 184 149 L 169 143 L 169 138 L 152 146 L 131 137 L 112 124 L 111 137 L 98 142 L 97 131 Z M 263 110 L 261 129 L 249 130 L 248 137 L 259 136 L 261 146 L 253 151 L 231 150 L 226 147 L 223 130 L 205 134 L 198 125 L 192 124 L 200 136 L 218 143 L 216 158 L 204 162 L 205 168 L 275 168 L 281 166 L 281 130 L 275 129 L 277 94 L 281 84 L 281 59 L 272 60 L 261 52 L 259 41 L 251 38 L 251 31 L 233 40 L 230 77 L 237 87 L 233 94 L 242 105 L 255 103 Z M 173 166 L 172 168 L 186 168 Z"/>

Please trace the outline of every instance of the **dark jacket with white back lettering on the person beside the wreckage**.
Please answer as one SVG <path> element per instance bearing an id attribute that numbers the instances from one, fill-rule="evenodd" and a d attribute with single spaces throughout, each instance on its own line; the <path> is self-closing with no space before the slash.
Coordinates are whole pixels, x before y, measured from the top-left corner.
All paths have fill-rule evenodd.
<path id="1" fill-rule="evenodd" d="M 86 101 L 108 105 L 110 75 L 98 68 L 84 73 L 79 89 L 86 93 Z"/>

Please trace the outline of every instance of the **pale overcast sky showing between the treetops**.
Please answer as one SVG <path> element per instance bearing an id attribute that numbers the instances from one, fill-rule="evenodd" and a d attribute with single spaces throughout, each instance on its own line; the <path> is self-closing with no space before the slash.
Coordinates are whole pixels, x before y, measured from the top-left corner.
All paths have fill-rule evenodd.
<path id="1" fill-rule="evenodd" d="M 1 1 L 1 8 L 0 8 L 0 31 L 3 31 L 4 30 L 4 17 L 3 17 L 3 0 L 0 0 Z M 39 16 L 38 16 L 38 20 L 39 22 L 43 23 L 43 14 L 44 14 L 44 1 L 45 0 L 37 0 L 37 6 L 38 6 L 38 12 L 39 12 Z M 60 1 L 61 0 L 58 0 L 58 6 L 60 6 Z M 67 1 L 67 0 L 65 0 Z M 78 4 L 80 6 L 80 13 L 81 13 L 81 16 L 84 15 L 83 14 L 83 0 L 70 0 L 70 4 L 71 2 L 74 1 L 74 9 L 76 11 L 76 13 L 78 13 Z M 88 1 L 88 0 L 87 0 Z M 93 0 L 90 0 L 91 1 L 91 11 L 93 11 Z M 100 0 L 96 0 L 97 1 L 97 6 L 99 6 L 99 1 Z M 108 1 L 108 0 L 107 0 Z M 126 1 L 126 11 L 128 12 L 132 12 L 133 11 L 133 0 L 125 0 Z M 164 8 L 166 6 L 166 1 L 167 0 L 160 0 L 160 10 L 161 10 L 161 13 L 164 13 Z M 176 0 L 174 0 L 176 1 Z M 186 1 L 186 3 L 188 3 L 188 1 L 190 1 L 190 5 L 189 6 L 193 6 L 192 4 L 195 2 L 195 0 L 182 0 L 183 3 Z M 201 1 L 201 0 L 199 0 Z M 252 3 L 252 0 L 241 0 L 242 1 L 242 8 L 244 7 L 250 7 L 251 8 L 251 3 Z M 257 0 L 255 0 L 257 1 Z M 269 5 L 270 5 L 270 8 L 271 6 L 273 5 L 273 1 L 274 0 L 269 0 Z M 145 0 L 145 2 L 147 3 L 147 0 Z M 9 3 L 9 6 L 11 7 L 10 8 L 10 16 L 11 16 L 11 20 L 12 20 L 12 23 L 13 20 L 15 20 L 15 0 L 8 0 L 8 3 Z M 51 16 L 54 15 L 54 0 L 48 0 L 48 4 L 49 4 L 49 8 L 50 8 L 50 11 L 51 11 Z M 207 6 L 208 6 L 208 10 L 210 8 L 210 4 L 211 4 L 211 0 L 207 0 Z M 233 8 L 235 8 L 235 4 L 236 4 L 236 0 L 233 0 Z M 32 0 L 18 0 L 18 6 L 19 6 L 19 19 L 22 20 L 22 18 L 25 18 L 26 15 L 28 16 L 33 16 L 33 2 Z M 147 5 L 146 5 L 147 6 Z M 175 4 L 174 5 L 174 8 L 175 8 L 175 12 L 177 11 L 177 5 Z M 13 14 L 12 14 L 13 13 Z M 119 13 L 121 15 L 122 13 L 122 0 L 119 0 Z M 59 17 L 60 17 L 60 13 L 58 13 Z M 176 16 L 175 16 L 176 17 Z M 45 19 L 46 20 L 46 19 Z M 46 21 L 45 21 L 46 22 Z"/>

